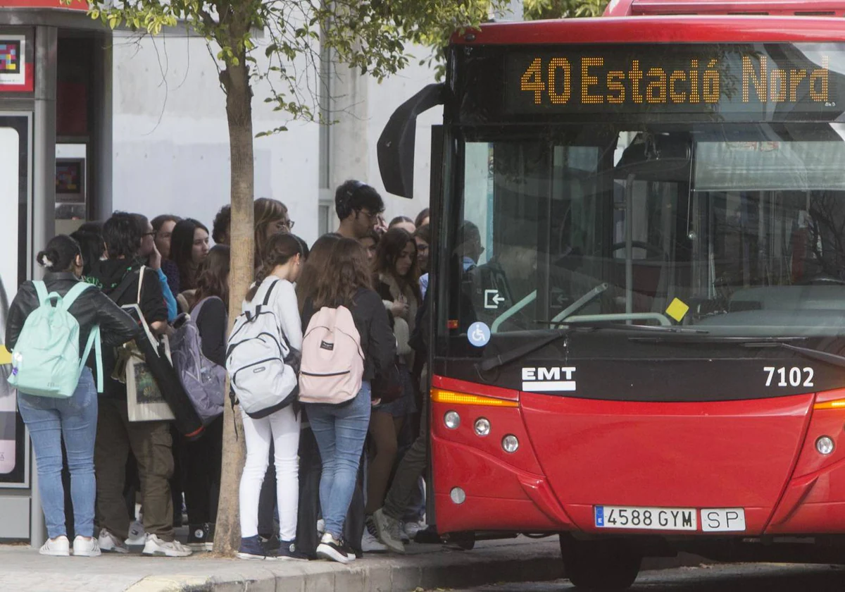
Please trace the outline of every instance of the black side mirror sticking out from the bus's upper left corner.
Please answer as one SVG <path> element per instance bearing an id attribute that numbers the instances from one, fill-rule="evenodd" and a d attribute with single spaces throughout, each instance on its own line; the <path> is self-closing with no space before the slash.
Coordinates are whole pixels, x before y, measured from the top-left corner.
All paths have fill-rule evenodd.
<path id="1" fill-rule="evenodd" d="M 428 85 L 401 104 L 390 116 L 377 145 L 384 189 L 409 200 L 414 196 L 414 140 L 417 115 L 444 104 L 446 86 Z"/>

